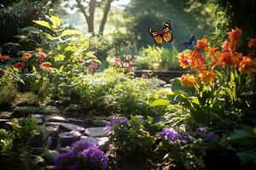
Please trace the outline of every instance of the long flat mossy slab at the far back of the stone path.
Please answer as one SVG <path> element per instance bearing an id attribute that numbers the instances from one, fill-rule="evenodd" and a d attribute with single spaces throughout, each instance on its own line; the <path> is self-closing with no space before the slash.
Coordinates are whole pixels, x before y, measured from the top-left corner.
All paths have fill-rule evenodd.
<path id="1" fill-rule="evenodd" d="M 25 117 L 30 114 L 42 114 L 42 115 L 54 115 L 59 114 L 60 111 L 51 105 L 44 105 L 40 107 L 35 106 L 24 106 L 24 107 L 16 107 L 13 113 L 14 117 Z"/>

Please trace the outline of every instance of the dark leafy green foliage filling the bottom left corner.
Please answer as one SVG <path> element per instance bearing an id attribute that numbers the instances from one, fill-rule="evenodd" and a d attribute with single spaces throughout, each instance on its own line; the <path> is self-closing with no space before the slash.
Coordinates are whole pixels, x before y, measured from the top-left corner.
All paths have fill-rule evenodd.
<path id="1" fill-rule="evenodd" d="M 23 119 L 21 122 L 12 121 L 12 132 L 1 132 L 1 168 L 3 169 L 34 169 L 35 164 L 32 158 L 30 142 L 44 128 L 38 126 L 38 122 L 32 118 Z"/>

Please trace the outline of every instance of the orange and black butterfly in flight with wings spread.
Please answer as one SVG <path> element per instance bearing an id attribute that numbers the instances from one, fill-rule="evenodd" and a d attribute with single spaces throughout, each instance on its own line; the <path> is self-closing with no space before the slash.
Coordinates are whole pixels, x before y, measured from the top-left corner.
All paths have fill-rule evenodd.
<path id="1" fill-rule="evenodd" d="M 154 42 L 157 45 L 161 45 L 163 40 L 166 42 L 172 42 L 173 40 L 173 34 L 172 34 L 172 27 L 171 27 L 171 21 L 167 20 L 165 26 L 163 27 L 162 31 L 156 31 L 152 28 L 146 28 L 148 33 L 151 37 L 154 37 Z"/>

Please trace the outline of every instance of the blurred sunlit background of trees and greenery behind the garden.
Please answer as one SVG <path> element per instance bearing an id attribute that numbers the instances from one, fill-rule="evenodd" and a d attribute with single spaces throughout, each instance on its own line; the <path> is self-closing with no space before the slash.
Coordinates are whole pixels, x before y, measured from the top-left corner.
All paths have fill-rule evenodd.
<path id="1" fill-rule="evenodd" d="M 226 37 L 223 32 L 237 26 L 245 40 L 255 37 L 253 0 L 1 0 L 0 4 L 0 54 L 14 57 L 20 30 L 50 14 L 58 15 L 67 27 L 91 34 L 90 49 L 102 68 L 115 56 L 132 54 L 137 69 L 177 70 L 177 54 L 192 35 L 219 46 Z M 160 31 L 166 20 L 172 22 L 174 40 L 157 47 L 145 28 Z"/>

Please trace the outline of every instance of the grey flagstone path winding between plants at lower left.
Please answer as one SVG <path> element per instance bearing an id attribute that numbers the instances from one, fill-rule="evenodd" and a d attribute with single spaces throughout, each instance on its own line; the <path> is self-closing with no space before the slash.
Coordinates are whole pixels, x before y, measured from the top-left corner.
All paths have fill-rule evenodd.
<path id="1" fill-rule="evenodd" d="M 31 114 L 32 113 L 32 114 Z M 68 150 L 73 142 L 80 139 L 98 144 L 104 150 L 108 144 L 108 137 L 103 127 L 109 122 L 106 116 L 94 116 L 90 118 L 73 118 L 58 116 L 60 111 L 54 106 L 44 107 L 18 107 L 12 112 L 0 112 L 0 128 L 10 128 L 9 120 L 13 117 L 22 119 L 22 117 L 32 116 L 38 121 L 38 124 L 44 124 L 45 132 L 39 138 L 41 148 L 37 147 L 36 152 L 44 152 L 43 162 L 41 157 L 37 158 L 38 165 L 51 165 L 46 169 L 55 169 L 55 156 Z M 35 140 L 38 141 L 38 140 Z M 38 143 L 38 142 L 37 142 Z M 36 144 L 38 146 L 38 144 Z M 44 150 L 46 148 L 46 150 Z M 40 153 L 39 153 L 40 154 Z"/>

